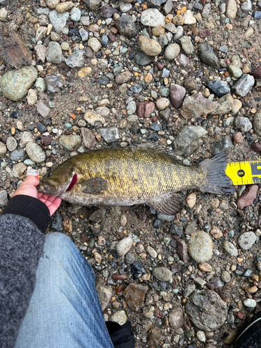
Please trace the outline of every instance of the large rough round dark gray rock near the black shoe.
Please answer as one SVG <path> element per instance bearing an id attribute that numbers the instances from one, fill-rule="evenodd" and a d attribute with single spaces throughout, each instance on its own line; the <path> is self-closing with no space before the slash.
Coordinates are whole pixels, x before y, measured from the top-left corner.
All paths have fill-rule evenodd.
<path id="1" fill-rule="evenodd" d="M 228 308 L 221 297 L 212 290 L 193 292 L 185 307 L 191 322 L 201 330 L 214 331 L 226 322 Z"/>

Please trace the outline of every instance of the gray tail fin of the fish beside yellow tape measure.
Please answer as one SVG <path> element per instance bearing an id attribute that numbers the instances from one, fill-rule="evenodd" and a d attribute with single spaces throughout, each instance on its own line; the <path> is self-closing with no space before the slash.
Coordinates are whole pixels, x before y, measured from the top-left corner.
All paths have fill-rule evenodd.
<path id="1" fill-rule="evenodd" d="M 203 191 L 218 195 L 234 193 L 235 188 L 232 180 L 226 175 L 228 162 L 225 153 L 216 155 L 211 159 L 204 159 L 200 166 L 206 175 L 205 184 L 201 188 Z"/>

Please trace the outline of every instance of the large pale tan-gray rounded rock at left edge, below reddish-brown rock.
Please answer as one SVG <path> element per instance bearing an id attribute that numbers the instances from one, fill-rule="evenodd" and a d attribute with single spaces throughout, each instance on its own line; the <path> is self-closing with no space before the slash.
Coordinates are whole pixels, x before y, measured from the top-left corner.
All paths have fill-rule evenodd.
<path id="1" fill-rule="evenodd" d="M 2 93 L 8 99 L 17 102 L 26 96 L 37 77 L 38 72 L 33 66 L 10 70 L 3 75 L 0 81 Z"/>

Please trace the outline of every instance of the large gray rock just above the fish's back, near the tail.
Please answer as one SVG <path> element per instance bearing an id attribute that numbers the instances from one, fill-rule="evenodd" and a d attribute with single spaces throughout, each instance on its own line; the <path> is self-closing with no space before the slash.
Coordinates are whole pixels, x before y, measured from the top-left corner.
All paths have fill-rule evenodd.
<path id="1" fill-rule="evenodd" d="M 194 151 L 198 150 L 200 145 L 203 144 L 201 139 L 207 135 L 206 129 L 200 126 L 187 126 L 177 134 L 177 138 L 173 142 L 176 155 L 191 155 Z"/>

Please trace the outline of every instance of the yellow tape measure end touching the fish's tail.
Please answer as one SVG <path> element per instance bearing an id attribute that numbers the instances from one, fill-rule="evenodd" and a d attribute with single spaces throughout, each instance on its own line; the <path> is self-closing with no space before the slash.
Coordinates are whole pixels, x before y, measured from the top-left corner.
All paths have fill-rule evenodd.
<path id="1" fill-rule="evenodd" d="M 261 184 L 261 161 L 228 163 L 226 175 L 234 185 Z"/>

